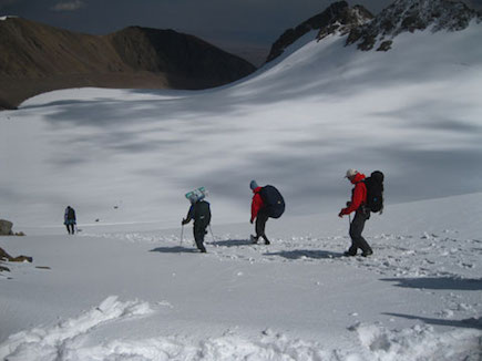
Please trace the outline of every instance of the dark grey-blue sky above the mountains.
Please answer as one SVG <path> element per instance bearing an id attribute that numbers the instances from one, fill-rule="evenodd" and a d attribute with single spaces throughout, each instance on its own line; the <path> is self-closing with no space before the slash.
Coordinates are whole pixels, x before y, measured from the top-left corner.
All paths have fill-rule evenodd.
<path id="1" fill-rule="evenodd" d="M 269 48 L 330 0 L 0 0 L 0 16 L 105 34 L 130 25 L 174 29 L 214 44 Z M 360 0 L 378 13 L 392 0 Z"/>

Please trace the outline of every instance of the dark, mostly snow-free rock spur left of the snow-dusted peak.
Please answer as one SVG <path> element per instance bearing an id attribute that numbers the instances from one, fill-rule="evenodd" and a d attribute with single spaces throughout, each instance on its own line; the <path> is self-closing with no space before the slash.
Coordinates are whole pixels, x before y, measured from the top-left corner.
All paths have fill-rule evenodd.
<path id="1" fill-rule="evenodd" d="M 358 27 L 372 18 L 373 16 L 361 6 L 350 8 L 346 1 L 334 2 L 325 11 L 304 21 L 298 27 L 286 30 L 273 44 L 266 62 L 278 58 L 286 48 L 309 31 L 319 30 L 317 38 L 322 39 L 336 31 L 347 33 L 352 27 Z"/>

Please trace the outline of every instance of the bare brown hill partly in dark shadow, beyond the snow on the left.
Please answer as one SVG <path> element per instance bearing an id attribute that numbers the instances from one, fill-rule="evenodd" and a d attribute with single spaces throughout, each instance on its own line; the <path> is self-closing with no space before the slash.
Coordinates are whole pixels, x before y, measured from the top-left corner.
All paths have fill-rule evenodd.
<path id="1" fill-rule="evenodd" d="M 65 87 L 207 89 L 255 70 L 173 30 L 131 27 L 100 37 L 17 17 L 0 20 L 0 109 Z"/>

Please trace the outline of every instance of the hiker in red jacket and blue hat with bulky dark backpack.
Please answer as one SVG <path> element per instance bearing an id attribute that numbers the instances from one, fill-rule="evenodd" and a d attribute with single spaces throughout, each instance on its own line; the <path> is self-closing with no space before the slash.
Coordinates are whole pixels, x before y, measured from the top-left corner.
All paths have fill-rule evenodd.
<path id="1" fill-rule="evenodd" d="M 285 199 L 274 186 L 267 185 L 259 187 L 256 180 L 249 183 L 254 196 L 252 202 L 252 218 L 253 224 L 256 219 L 256 236 L 250 236 L 252 243 L 257 244 L 261 237 L 265 239 L 265 245 L 269 245 L 269 239 L 266 237 L 265 228 L 268 218 L 279 218 L 285 212 Z"/>

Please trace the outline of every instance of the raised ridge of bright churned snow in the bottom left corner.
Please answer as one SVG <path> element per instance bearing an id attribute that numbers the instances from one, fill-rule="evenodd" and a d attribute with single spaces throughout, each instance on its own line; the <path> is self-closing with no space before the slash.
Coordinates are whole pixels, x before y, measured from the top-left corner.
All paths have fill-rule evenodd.
<path id="1" fill-rule="evenodd" d="M 61 321 L 53 327 L 33 328 L 12 334 L 0 344 L 1 360 L 85 360 L 73 357 L 84 336 L 96 327 L 113 320 L 151 313 L 146 302 L 121 302 L 116 296 L 107 297 L 99 307 L 76 319 Z"/>

